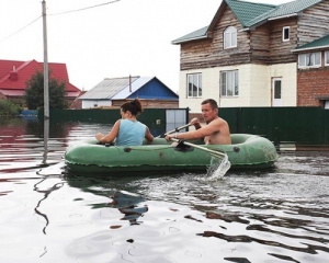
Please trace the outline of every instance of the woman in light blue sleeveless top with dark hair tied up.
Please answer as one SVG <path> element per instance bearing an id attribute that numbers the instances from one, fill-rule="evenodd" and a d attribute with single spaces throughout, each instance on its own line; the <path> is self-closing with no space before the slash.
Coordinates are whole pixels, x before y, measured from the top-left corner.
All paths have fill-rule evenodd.
<path id="1" fill-rule="evenodd" d="M 144 138 L 149 142 L 154 141 L 149 128 L 137 121 L 137 115 L 141 113 L 141 104 L 138 99 L 125 102 L 121 106 L 122 118 L 116 121 L 111 132 L 104 136 L 99 133 L 95 138 L 101 144 L 112 142 L 115 140 L 116 146 L 140 146 Z"/>

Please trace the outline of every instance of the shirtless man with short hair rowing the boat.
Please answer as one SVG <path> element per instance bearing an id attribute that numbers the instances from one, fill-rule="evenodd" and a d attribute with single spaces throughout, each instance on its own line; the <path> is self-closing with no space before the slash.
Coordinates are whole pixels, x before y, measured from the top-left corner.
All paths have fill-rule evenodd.
<path id="1" fill-rule="evenodd" d="M 207 125 L 201 127 L 197 118 L 192 118 L 190 124 L 194 125 L 195 130 L 180 134 L 170 134 L 166 140 L 171 138 L 180 140 L 193 140 L 204 138 L 206 145 L 230 145 L 230 133 L 226 121 L 218 117 L 218 105 L 213 99 L 205 100 L 201 103 L 202 116 Z"/>

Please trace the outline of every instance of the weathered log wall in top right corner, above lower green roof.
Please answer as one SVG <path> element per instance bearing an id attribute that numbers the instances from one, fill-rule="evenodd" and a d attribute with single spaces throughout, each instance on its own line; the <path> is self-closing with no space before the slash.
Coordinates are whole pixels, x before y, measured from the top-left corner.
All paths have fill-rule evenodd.
<path id="1" fill-rule="evenodd" d="M 329 34 L 329 0 L 322 1 L 298 16 L 298 46 L 316 41 Z M 327 21 L 324 23 L 324 21 Z"/>

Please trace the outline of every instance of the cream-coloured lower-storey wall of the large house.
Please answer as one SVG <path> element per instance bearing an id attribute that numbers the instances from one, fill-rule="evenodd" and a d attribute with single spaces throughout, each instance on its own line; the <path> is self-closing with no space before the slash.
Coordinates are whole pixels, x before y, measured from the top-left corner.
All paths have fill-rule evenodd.
<path id="1" fill-rule="evenodd" d="M 239 95 L 219 95 L 220 71 L 239 71 Z M 188 98 L 186 75 L 202 73 L 202 98 Z M 272 105 L 272 79 L 282 79 L 282 105 L 296 106 L 296 64 L 282 65 L 240 65 L 215 67 L 200 70 L 186 70 L 180 72 L 180 107 L 190 107 L 191 114 L 200 113 L 201 102 L 212 98 L 217 101 L 219 107 L 250 107 Z"/>

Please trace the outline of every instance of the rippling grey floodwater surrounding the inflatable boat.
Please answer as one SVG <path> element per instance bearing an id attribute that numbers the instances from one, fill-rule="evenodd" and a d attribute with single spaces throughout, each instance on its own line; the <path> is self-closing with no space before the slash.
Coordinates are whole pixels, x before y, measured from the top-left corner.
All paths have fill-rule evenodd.
<path id="1" fill-rule="evenodd" d="M 216 181 L 68 173 L 66 147 L 109 129 L 0 119 L 0 262 L 329 262 L 329 152 Z"/>

